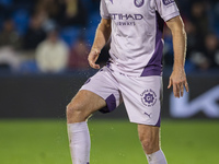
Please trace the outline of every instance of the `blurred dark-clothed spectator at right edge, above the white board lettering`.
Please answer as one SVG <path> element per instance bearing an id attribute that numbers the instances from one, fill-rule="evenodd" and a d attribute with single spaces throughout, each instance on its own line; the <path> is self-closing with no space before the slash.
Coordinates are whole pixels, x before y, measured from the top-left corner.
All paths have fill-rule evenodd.
<path id="1" fill-rule="evenodd" d="M 191 59 L 200 70 L 219 68 L 219 42 L 217 36 L 208 34 L 203 50 L 192 52 Z"/>

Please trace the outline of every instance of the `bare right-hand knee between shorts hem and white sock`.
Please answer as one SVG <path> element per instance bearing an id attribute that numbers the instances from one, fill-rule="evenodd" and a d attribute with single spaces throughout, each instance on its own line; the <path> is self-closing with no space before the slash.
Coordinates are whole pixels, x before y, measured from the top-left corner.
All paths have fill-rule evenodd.
<path id="1" fill-rule="evenodd" d="M 160 128 L 138 125 L 138 136 L 146 153 L 151 154 L 160 149 Z"/>

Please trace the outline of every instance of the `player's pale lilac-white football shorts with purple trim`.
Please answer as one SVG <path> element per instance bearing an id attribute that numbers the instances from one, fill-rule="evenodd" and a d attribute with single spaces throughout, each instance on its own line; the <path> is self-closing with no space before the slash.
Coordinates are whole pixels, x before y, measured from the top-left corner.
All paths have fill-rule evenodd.
<path id="1" fill-rule="evenodd" d="M 160 127 L 162 77 L 128 77 L 107 67 L 90 78 L 80 90 L 91 91 L 106 102 L 102 113 L 124 102 L 130 122 Z"/>

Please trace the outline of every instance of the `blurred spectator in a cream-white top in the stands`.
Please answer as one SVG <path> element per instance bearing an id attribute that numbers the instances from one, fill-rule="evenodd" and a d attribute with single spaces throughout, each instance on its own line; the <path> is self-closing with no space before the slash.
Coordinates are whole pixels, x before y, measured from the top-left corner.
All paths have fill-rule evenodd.
<path id="1" fill-rule="evenodd" d="M 68 55 L 68 47 L 59 39 L 57 30 L 54 30 L 37 46 L 36 62 L 42 72 L 57 73 L 67 68 Z"/>

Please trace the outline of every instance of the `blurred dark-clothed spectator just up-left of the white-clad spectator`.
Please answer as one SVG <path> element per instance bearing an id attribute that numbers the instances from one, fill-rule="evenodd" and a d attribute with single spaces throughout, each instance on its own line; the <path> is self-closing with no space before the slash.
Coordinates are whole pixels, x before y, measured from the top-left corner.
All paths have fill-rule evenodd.
<path id="1" fill-rule="evenodd" d="M 35 50 L 41 42 L 46 38 L 46 33 L 43 30 L 44 15 L 36 13 L 32 16 L 30 26 L 24 36 L 24 49 Z"/>

